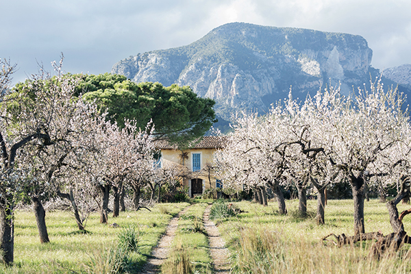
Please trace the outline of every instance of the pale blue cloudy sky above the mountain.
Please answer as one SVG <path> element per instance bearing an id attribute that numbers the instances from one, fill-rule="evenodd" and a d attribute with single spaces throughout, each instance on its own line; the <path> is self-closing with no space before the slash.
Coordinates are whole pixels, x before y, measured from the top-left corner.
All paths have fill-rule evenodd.
<path id="1" fill-rule="evenodd" d="M 130 55 L 189 45 L 232 22 L 364 37 L 371 66 L 411 64 L 410 0 L 0 0 L 0 58 L 13 84 L 64 54 L 70 73 L 110 72 Z"/>

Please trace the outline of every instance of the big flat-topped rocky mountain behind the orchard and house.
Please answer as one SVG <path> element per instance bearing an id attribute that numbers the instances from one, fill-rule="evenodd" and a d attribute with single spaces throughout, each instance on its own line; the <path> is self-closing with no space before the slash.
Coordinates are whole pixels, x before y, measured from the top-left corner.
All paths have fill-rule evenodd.
<path id="1" fill-rule="evenodd" d="M 371 58 L 361 36 L 229 23 L 188 46 L 121 60 L 112 73 L 190 86 L 214 99 L 216 113 L 228 119 L 236 110 L 264 112 L 287 97 L 290 86 L 301 99 L 339 82 L 349 93 L 369 81 Z"/>

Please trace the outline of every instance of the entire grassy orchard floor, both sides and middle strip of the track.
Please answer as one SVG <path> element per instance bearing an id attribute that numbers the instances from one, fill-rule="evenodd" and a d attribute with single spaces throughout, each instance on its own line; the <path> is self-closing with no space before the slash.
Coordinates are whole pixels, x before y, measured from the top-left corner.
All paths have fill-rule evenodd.
<path id="1" fill-rule="evenodd" d="M 17 211 L 15 220 L 14 266 L 1 266 L 0 273 L 110 273 L 108 265 L 119 245 L 119 233 L 130 225 L 138 227 L 138 251 L 127 253 L 126 273 L 137 273 L 147 261 L 166 224 L 188 203 L 163 203 L 152 212 L 121 212 L 109 223 L 99 223 L 99 215 L 92 214 L 86 230 L 79 234 L 70 212 L 47 212 L 46 221 L 50 243 L 40 244 L 36 220 L 32 212 Z M 410 245 L 381 260 L 369 256 L 372 242 L 338 248 L 321 238 L 330 233 L 353 234 L 353 201 L 331 200 L 325 208 L 325 225 L 316 225 L 316 201 L 308 201 L 309 217 L 299 218 L 297 200 L 287 201 L 288 215 L 277 213 L 277 203 L 263 207 L 249 201 L 234 202 L 237 216 L 214 220 L 232 253 L 234 273 L 408 273 L 411 271 Z M 197 273 L 210 273 L 211 259 L 208 240 L 195 223 L 201 218 L 206 203 L 194 204 L 179 220 L 173 243 L 175 250 L 187 251 Z M 410 205 L 399 204 L 399 211 Z M 371 200 L 365 203 L 366 232 L 392 232 L 384 203 Z M 411 218 L 404 219 L 406 231 L 411 229 Z M 114 255 L 113 255 L 114 253 Z M 172 254 L 172 253 L 171 253 Z"/>

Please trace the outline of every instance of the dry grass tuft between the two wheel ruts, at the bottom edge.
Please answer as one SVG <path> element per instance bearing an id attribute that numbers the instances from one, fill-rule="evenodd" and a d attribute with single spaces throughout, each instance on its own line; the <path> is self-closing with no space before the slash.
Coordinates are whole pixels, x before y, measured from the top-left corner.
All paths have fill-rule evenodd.
<path id="1" fill-rule="evenodd" d="M 162 274 L 193 274 L 195 266 L 190 262 L 190 254 L 188 249 L 183 247 L 182 242 L 177 242 L 177 245 L 170 251 L 169 258 L 161 266 Z"/>

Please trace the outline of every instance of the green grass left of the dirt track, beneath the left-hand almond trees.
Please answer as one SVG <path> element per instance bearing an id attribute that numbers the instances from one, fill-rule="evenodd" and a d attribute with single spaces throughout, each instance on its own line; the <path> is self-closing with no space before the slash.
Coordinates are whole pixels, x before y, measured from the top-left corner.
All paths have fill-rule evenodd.
<path id="1" fill-rule="evenodd" d="M 135 273 L 147 261 L 172 216 L 186 206 L 188 203 L 163 203 L 152 208 L 151 212 L 129 211 L 121 212 L 117 218 L 109 217 L 109 223 L 115 222 L 119 228 L 100 224 L 99 214 L 92 214 L 86 234 L 78 233 L 69 212 L 47 212 L 46 223 L 51 240 L 47 244 L 40 244 L 34 214 L 18 211 L 14 266 L 0 266 L 0 273 L 88 273 L 92 260 L 99 260 L 102 264 L 110 259 L 110 252 L 116 251 L 119 234 L 124 229 L 138 225 L 138 252 L 129 253 L 128 258 L 133 266 L 128 272 Z"/>

